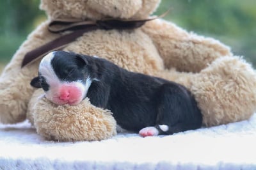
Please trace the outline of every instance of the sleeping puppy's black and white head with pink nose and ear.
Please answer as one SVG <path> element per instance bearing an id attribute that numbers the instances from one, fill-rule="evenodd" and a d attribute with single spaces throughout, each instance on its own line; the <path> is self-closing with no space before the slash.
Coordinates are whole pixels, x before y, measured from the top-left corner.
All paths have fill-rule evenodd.
<path id="1" fill-rule="evenodd" d="M 40 62 L 38 77 L 30 84 L 44 89 L 45 97 L 54 104 L 79 104 L 92 83 L 89 60 L 89 56 L 72 52 L 50 52 Z"/>

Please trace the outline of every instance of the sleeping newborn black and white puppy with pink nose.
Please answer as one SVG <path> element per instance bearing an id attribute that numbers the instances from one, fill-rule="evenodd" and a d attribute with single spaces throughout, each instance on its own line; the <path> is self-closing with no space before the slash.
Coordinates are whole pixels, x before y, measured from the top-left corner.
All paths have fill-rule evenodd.
<path id="1" fill-rule="evenodd" d="M 45 56 L 31 86 L 58 105 L 90 102 L 113 112 L 125 130 L 142 136 L 200 128 L 202 114 L 180 84 L 124 70 L 106 59 L 54 51 Z"/>

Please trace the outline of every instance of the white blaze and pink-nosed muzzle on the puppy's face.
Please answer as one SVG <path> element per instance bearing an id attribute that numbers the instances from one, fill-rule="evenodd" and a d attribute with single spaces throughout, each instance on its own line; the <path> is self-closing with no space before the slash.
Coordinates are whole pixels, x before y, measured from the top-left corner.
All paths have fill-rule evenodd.
<path id="1" fill-rule="evenodd" d="M 40 75 L 49 84 L 49 90 L 45 91 L 45 97 L 58 105 L 79 104 L 90 88 L 92 83 L 90 77 L 86 79 L 85 84 L 81 80 L 74 82 L 61 81 L 52 68 L 51 61 L 53 58 L 54 52 L 50 52 L 42 59 L 39 66 Z"/>

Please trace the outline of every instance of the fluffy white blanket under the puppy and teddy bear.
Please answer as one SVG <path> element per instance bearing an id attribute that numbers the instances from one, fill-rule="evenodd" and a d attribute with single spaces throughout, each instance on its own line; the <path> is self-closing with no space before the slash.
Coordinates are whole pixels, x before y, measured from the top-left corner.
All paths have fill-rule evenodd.
<path id="1" fill-rule="evenodd" d="M 0 169 L 256 169 L 256 114 L 174 135 L 76 143 L 45 141 L 28 121 L 0 124 Z"/>

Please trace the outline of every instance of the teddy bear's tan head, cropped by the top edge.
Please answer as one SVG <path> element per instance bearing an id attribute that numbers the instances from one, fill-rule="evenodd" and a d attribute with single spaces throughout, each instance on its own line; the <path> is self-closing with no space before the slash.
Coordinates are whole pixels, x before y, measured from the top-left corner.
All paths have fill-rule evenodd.
<path id="1" fill-rule="evenodd" d="M 50 19 L 145 19 L 161 0 L 41 0 Z"/>

